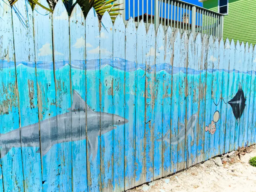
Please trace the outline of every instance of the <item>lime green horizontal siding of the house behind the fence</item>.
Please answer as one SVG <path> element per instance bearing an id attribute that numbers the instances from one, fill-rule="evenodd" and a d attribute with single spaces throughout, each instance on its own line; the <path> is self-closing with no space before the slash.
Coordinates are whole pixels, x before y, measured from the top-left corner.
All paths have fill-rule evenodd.
<path id="1" fill-rule="evenodd" d="M 203 7 L 218 11 L 218 0 L 207 0 Z M 256 44 L 256 1 L 229 0 L 228 15 L 224 16 L 223 39 L 227 37 Z"/>

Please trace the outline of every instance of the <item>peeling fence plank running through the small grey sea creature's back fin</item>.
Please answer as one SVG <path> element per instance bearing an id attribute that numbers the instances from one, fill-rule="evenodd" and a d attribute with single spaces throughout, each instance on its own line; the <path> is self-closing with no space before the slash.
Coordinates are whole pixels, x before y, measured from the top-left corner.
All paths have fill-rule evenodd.
<path id="1" fill-rule="evenodd" d="M 180 44 L 180 64 L 179 64 L 179 122 L 178 122 L 178 169 L 185 169 L 187 162 L 187 137 L 189 127 L 187 127 L 188 119 L 185 119 L 187 114 L 186 97 L 188 86 L 187 83 L 187 67 L 188 67 L 188 35 L 184 31 L 181 36 Z"/>

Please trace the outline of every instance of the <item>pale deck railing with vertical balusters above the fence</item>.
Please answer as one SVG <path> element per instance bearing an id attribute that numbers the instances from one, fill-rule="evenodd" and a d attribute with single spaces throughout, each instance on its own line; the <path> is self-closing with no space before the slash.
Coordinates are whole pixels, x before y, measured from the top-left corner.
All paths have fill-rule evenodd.
<path id="1" fill-rule="evenodd" d="M 162 23 L 164 30 L 171 26 L 182 33 L 187 30 L 194 33 L 222 37 L 224 15 L 189 4 L 180 0 L 118 0 L 124 10 L 121 11 L 123 19 L 127 22 L 134 18 L 136 26 L 143 20 L 146 28 L 152 22 L 157 28 Z"/>

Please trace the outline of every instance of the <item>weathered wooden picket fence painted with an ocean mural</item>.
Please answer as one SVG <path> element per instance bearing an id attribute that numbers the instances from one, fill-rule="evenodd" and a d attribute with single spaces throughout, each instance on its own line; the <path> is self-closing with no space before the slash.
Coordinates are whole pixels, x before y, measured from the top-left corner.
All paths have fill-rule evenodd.
<path id="1" fill-rule="evenodd" d="M 0 192 L 121 192 L 256 142 L 252 44 L 62 1 L 0 0 L 0 26 Z"/>

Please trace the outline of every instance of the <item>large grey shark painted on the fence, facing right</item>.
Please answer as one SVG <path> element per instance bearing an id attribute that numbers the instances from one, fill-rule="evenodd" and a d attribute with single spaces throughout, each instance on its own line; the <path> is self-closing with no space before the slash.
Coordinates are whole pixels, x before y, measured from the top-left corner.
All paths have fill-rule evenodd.
<path id="1" fill-rule="evenodd" d="M 39 147 L 37 153 L 44 156 L 49 149 L 58 143 L 86 139 L 86 114 L 87 137 L 89 141 L 89 157 L 92 160 L 98 151 L 98 136 L 116 129 L 116 125 L 128 122 L 124 117 L 93 111 L 86 105 L 83 98 L 73 90 L 73 102 L 69 112 L 40 121 L 40 123 L 24 126 L 11 132 L 0 135 L 1 157 L 3 158 L 13 147 Z M 66 127 L 66 122 L 72 122 L 72 126 Z M 82 122 L 82 123 L 81 123 Z M 59 126 L 57 126 L 59 124 Z M 39 136 L 40 126 L 40 136 Z M 41 145 L 40 140 L 41 138 Z"/>

